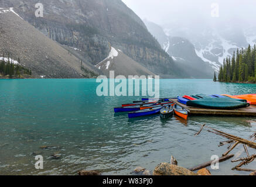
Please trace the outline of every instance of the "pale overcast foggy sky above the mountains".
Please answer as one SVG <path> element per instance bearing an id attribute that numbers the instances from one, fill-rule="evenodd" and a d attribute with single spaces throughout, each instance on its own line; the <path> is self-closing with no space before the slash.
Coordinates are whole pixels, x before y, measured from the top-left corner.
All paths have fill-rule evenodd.
<path id="1" fill-rule="evenodd" d="M 172 22 L 200 22 L 216 20 L 227 22 L 240 18 L 256 23 L 256 0 L 122 0 L 142 20 L 159 25 Z M 219 18 L 213 18 L 212 4 L 219 4 Z"/>

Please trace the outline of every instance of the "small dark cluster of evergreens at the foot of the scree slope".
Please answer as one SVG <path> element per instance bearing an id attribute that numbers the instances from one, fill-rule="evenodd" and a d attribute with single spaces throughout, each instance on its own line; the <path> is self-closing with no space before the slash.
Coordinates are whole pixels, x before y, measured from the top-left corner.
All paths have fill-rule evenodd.
<path id="1" fill-rule="evenodd" d="M 9 78 L 19 78 L 21 75 L 32 75 L 31 70 L 28 68 L 23 67 L 20 61 L 20 58 L 18 58 L 18 64 L 14 64 L 11 61 L 10 54 L 8 53 L 7 61 L 5 60 L 5 54 L 2 57 L 2 60 L 0 60 L 0 74 L 4 76 L 9 76 Z"/>

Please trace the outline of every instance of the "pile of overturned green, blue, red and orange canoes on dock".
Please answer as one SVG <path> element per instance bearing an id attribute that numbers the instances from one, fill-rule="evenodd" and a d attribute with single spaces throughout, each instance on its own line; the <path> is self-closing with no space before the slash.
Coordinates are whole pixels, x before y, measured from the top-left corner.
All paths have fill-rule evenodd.
<path id="1" fill-rule="evenodd" d="M 178 96 L 178 102 L 187 106 L 194 106 L 207 109 L 239 109 L 256 105 L 256 95 L 184 95 Z"/>

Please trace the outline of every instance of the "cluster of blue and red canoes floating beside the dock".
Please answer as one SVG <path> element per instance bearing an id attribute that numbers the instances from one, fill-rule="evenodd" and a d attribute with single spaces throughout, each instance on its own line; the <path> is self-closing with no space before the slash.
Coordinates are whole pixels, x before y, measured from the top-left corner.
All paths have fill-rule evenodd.
<path id="1" fill-rule="evenodd" d="M 188 112 L 181 106 L 170 101 L 169 99 L 142 99 L 142 101 L 134 101 L 132 103 L 124 104 L 121 107 L 114 108 L 114 112 L 129 112 L 128 117 L 141 117 L 159 114 L 162 119 L 167 119 L 175 115 L 187 119 Z"/>

